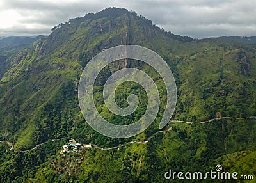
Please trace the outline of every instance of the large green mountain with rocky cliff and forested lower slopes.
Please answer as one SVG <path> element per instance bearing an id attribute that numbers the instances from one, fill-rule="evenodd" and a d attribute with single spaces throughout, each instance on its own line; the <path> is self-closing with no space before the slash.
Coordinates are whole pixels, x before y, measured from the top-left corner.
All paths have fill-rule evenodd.
<path id="1" fill-rule="evenodd" d="M 145 91 L 132 82 L 118 86 L 115 99 L 127 107 L 127 96 L 136 94 L 140 104 L 133 114 L 114 115 L 104 104 L 104 83 L 121 68 L 138 68 L 152 77 L 161 104 L 147 130 L 113 139 L 85 122 L 77 89 L 83 68 L 95 55 L 124 44 L 147 47 L 164 58 L 177 84 L 177 107 L 174 121 L 161 131 L 163 79 L 141 61 L 115 61 L 100 72 L 93 88 L 100 115 L 124 125 L 147 109 Z M 0 81 L 0 181 L 168 182 L 164 174 L 170 169 L 205 173 L 217 164 L 223 171 L 255 175 L 255 53 L 253 45 L 223 38 L 173 35 L 120 8 L 70 19 L 19 51 L 1 52 L 1 63 L 9 65 L 1 70 Z M 92 148 L 60 154 L 69 139 Z"/>

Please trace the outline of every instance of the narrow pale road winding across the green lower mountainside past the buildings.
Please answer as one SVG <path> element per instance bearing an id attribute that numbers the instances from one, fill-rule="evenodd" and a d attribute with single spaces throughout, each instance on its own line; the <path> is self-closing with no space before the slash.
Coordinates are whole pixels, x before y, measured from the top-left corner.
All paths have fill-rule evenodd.
<path id="1" fill-rule="evenodd" d="M 250 117 L 246 117 L 246 118 L 235 118 L 235 117 L 221 117 L 221 118 L 212 118 L 211 120 L 207 120 L 207 121 L 204 121 L 204 122 L 198 122 L 198 123 L 194 123 L 194 122 L 186 122 L 186 121 L 180 121 L 180 120 L 171 120 L 169 123 L 172 123 L 172 122 L 182 122 L 182 123 L 188 123 L 188 124 L 203 124 L 203 123 L 208 123 L 208 122 L 213 122 L 215 120 L 222 120 L 222 119 L 235 119 L 235 120 L 244 120 L 244 119 L 250 119 L 250 118 L 256 118 L 256 116 L 250 116 Z M 162 130 L 162 131 L 157 131 L 155 132 L 154 134 L 152 134 L 150 137 L 148 137 L 145 141 L 129 141 L 127 143 L 124 143 L 122 145 L 118 145 L 118 146 L 115 146 L 115 147 L 106 147 L 106 148 L 103 148 L 103 147 L 98 147 L 97 145 L 95 144 L 92 144 L 93 147 L 99 149 L 99 150 L 111 150 L 111 149 L 114 149 L 114 148 L 119 148 L 119 147 L 123 147 L 125 145 L 128 145 L 128 144 L 131 144 L 131 143 L 140 143 L 140 144 L 146 144 L 148 143 L 148 141 L 153 138 L 156 134 L 160 133 L 160 132 L 166 132 L 166 131 L 171 131 L 172 130 L 172 127 L 166 129 L 166 130 Z M 64 138 L 58 138 L 58 139 L 52 139 L 52 141 L 58 141 L 58 140 L 62 140 Z M 45 143 L 47 143 L 48 141 L 45 141 L 44 143 L 40 143 L 38 145 L 36 145 L 35 147 L 33 148 L 29 148 L 28 150 L 20 150 L 20 152 L 28 152 L 30 150 L 35 150 L 36 148 L 40 147 L 40 145 L 44 145 Z M 7 140 L 3 140 L 3 141 L 0 141 L 0 143 L 7 143 L 10 147 L 13 148 L 13 144 L 10 143 L 10 141 L 7 141 Z M 11 149 L 12 149 L 11 148 Z M 11 150 L 10 149 L 10 150 Z"/>

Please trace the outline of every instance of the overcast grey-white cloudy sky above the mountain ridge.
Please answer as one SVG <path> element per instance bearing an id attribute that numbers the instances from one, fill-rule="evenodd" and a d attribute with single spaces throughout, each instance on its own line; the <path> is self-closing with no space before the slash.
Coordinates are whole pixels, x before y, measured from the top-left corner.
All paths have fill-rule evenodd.
<path id="1" fill-rule="evenodd" d="M 108 7 L 135 10 L 166 31 L 208 38 L 255 36 L 255 0 L 1 0 L 0 37 L 49 35 L 51 28 L 69 18 Z"/>

